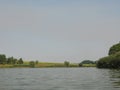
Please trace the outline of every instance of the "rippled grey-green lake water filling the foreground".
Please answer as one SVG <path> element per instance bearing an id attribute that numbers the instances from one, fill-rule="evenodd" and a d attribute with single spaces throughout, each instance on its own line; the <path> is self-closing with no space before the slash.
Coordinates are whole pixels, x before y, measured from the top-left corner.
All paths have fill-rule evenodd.
<path id="1" fill-rule="evenodd" d="M 120 90 L 120 71 L 97 68 L 0 69 L 0 90 Z"/>

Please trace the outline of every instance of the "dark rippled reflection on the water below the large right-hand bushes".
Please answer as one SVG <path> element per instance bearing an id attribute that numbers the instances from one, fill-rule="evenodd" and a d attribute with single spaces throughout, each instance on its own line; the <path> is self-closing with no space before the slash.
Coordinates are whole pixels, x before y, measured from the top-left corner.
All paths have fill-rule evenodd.
<path id="1" fill-rule="evenodd" d="M 109 73 L 113 86 L 120 88 L 120 70 L 110 70 Z"/>

